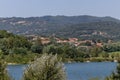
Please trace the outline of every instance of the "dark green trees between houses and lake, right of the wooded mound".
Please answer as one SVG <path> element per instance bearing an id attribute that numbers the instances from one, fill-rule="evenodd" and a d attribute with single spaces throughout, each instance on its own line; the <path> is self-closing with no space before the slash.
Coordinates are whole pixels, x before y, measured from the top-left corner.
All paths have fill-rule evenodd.
<path id="1" fill-rule="evenodd" d="M 49 44 L 43 45 L 40 39 L 32 45 L 34 53 L 58 54 L 64 61 L 114 61 L 120 60 L 120 43 L 103 43 L 103 46 L 89 42 L 75 46 L 72 43 L 57 43 L 51 38 Z"/>

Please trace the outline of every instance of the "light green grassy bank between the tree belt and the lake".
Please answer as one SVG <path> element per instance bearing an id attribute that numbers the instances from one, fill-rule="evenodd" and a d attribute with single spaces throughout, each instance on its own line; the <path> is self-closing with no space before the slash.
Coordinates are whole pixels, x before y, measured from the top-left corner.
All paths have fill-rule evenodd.
<path id="1" fill-rule="evenodd" d="M 32 54 L 32 55 L 14 55 L 14 56 L 5 56 L 4 60 L 10 64 L 28 64 L 34 61 L 36 58 L 40 57 L 39 54 Z M 61 57 L 59 57 L 61 58 Z M 112 58 L 102 58 L 102 57 L 92 57 L 92 58 L 62 58 L 63 62 L 72 63 L 72 62 L 120 62 L 120 59 L 112 59 Z"/>

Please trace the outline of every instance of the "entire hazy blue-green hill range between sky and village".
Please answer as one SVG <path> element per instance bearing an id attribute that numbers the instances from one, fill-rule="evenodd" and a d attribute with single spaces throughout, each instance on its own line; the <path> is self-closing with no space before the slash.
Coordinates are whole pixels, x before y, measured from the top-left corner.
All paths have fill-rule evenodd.
<path id="1" fill-rule="evenodd" d="M 56 34 L 60 37 L 81 39 L 120 39 L 120 20 L 95 16 L 44 16 L 0 18 L 0 29 L 22 35 Z"/>

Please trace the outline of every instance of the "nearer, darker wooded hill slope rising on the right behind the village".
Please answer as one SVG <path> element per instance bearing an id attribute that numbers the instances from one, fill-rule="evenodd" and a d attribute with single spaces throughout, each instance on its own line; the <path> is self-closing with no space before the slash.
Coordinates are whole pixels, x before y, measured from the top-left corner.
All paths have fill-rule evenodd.
<path id="1" fill-rule="evenodd" d="M 78 37 L 81 39 L 120 39 L 120 23 L 112 21 L 80 23 L 65 26 L 57 30 L 56 35 L 62 37 Z"/>

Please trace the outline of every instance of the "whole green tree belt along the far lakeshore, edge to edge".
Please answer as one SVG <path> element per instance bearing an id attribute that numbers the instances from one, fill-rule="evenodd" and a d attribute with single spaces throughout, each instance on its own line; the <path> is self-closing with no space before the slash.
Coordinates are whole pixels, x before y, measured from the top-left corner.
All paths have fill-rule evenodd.
<path id="1" fill-rule="evenodd" d="M 113 61 L 120 58 L 120 43 L 103 43 L 103 47 L 84 43 L 75 46 L 72 43 L 57 43 L 54 37 L 50 43 L 42 44 L 28 41 L 24 36 L 13 35 L 5 30 L 0 31 L 0 54 L 8 63 L 28 63 L 41 54 L 57 54 L 63 61 Z"/>

